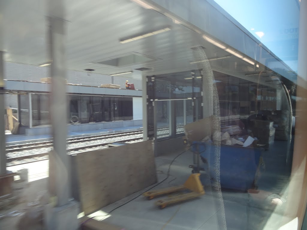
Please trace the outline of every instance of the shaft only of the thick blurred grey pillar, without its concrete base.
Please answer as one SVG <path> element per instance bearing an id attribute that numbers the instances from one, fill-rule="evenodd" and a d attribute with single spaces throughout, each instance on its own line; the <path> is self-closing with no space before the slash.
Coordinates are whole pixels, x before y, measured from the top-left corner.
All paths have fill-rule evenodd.
<path id="1" fill-rule="evenodd" d="M 51 76 L 51 124 L 53 134 L 53 154 L 56 165 L 54 185 L 57 205 L 68 203 L 70 197 L 69 159 L 66 152 L 67 137 L 67 99 L 66 99 L 66 56 L 65 56 L 65 23 L 66 21 L 49 17 L 50 23 L 50 56 L 52 59 Z"/>

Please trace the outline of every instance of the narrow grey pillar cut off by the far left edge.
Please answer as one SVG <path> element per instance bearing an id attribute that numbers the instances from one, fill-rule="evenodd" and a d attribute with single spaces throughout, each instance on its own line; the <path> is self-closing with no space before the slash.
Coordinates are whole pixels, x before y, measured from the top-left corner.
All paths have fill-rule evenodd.
<path id="1" fill-rule="evenodd" d="M 4 122 L 4 52 L 0 51 L 0 174 L 6 173 L 5 122 Z"/>

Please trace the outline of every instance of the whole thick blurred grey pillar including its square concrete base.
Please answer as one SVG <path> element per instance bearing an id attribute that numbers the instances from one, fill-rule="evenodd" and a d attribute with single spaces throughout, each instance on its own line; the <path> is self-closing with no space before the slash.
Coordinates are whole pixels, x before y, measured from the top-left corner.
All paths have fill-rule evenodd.
<path id="1" fill-rule="evenodd" d="M 79 229 L 79 205 L 70 200 L 70 159 L 66 152 L 67 98 L 66 98 L 66 23 L 62 0 L 48 1 L 49 57 L 51 77 L 51 124 L 53 150 L 49 154 L 49 194 L 55 203 L 44 206 L 44 225 L 47 230 Z M 55 206 L 54 206 L 55 205 Z"/>

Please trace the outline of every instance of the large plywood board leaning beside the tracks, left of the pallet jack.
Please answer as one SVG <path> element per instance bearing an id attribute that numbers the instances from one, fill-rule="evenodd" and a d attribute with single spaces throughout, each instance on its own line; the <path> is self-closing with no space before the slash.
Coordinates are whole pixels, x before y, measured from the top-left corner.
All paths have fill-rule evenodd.
<path id="1" fill-rule="evenodd" d="M 157 182 L 150 140 L 79 153 L 76 167 L 85 214 Z"/>

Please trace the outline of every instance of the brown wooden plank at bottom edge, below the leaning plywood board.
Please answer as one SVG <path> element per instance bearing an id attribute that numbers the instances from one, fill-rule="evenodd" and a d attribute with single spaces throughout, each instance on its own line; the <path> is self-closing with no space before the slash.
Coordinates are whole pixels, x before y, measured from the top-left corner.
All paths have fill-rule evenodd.
<path id="1" fill-rule="evenodd" d="M 123 228 L 119 226 L 107 224 L 103 221 L 98 221 L 85 216 L 79 219 L 79 223 L 82 230 L 123 230 Z"/>

